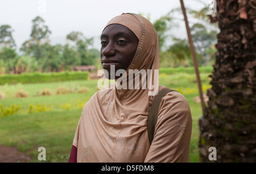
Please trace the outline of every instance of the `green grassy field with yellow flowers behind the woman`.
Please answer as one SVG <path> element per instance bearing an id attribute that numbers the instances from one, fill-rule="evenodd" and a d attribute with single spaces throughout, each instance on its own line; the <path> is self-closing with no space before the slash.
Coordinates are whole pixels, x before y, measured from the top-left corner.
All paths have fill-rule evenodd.
<path id="1" fill-rule="evenodd" d="M 198 120 L 202 115 L 195 73 L 191 69 L 160 71 L 159 84 L 178 90 L 187 98 L 191 107 L 193 130 L 191 138 L 191 162 L 199 162 Z M 209 85 L 211 68 L 200 69 L 203 92 Z M 86 86 L 86 87 L 85 87 Z M 80 118 L 82 107 L 96 91 L 97 80 L 76 80 L 37 84 L 2 85 L 0 91 L 5 98 L 0 100 L 0 145 L 17 147 L 39 162 L 38 148 L 46 148 L 47 162 L 67 162 L 73 136 Z M 66 92 L 56 94 L 57 89 Z M 15 98 L 19 90 L 27 92 L 26 98 Z M 81 89 L 84 89 L 81 91 Z M 38 92 L 38 91 L 41 92 Z M 49 92 L 47 96 L 44 92 Z M 62 90 L 63 91 L 63 90 Z"/>

